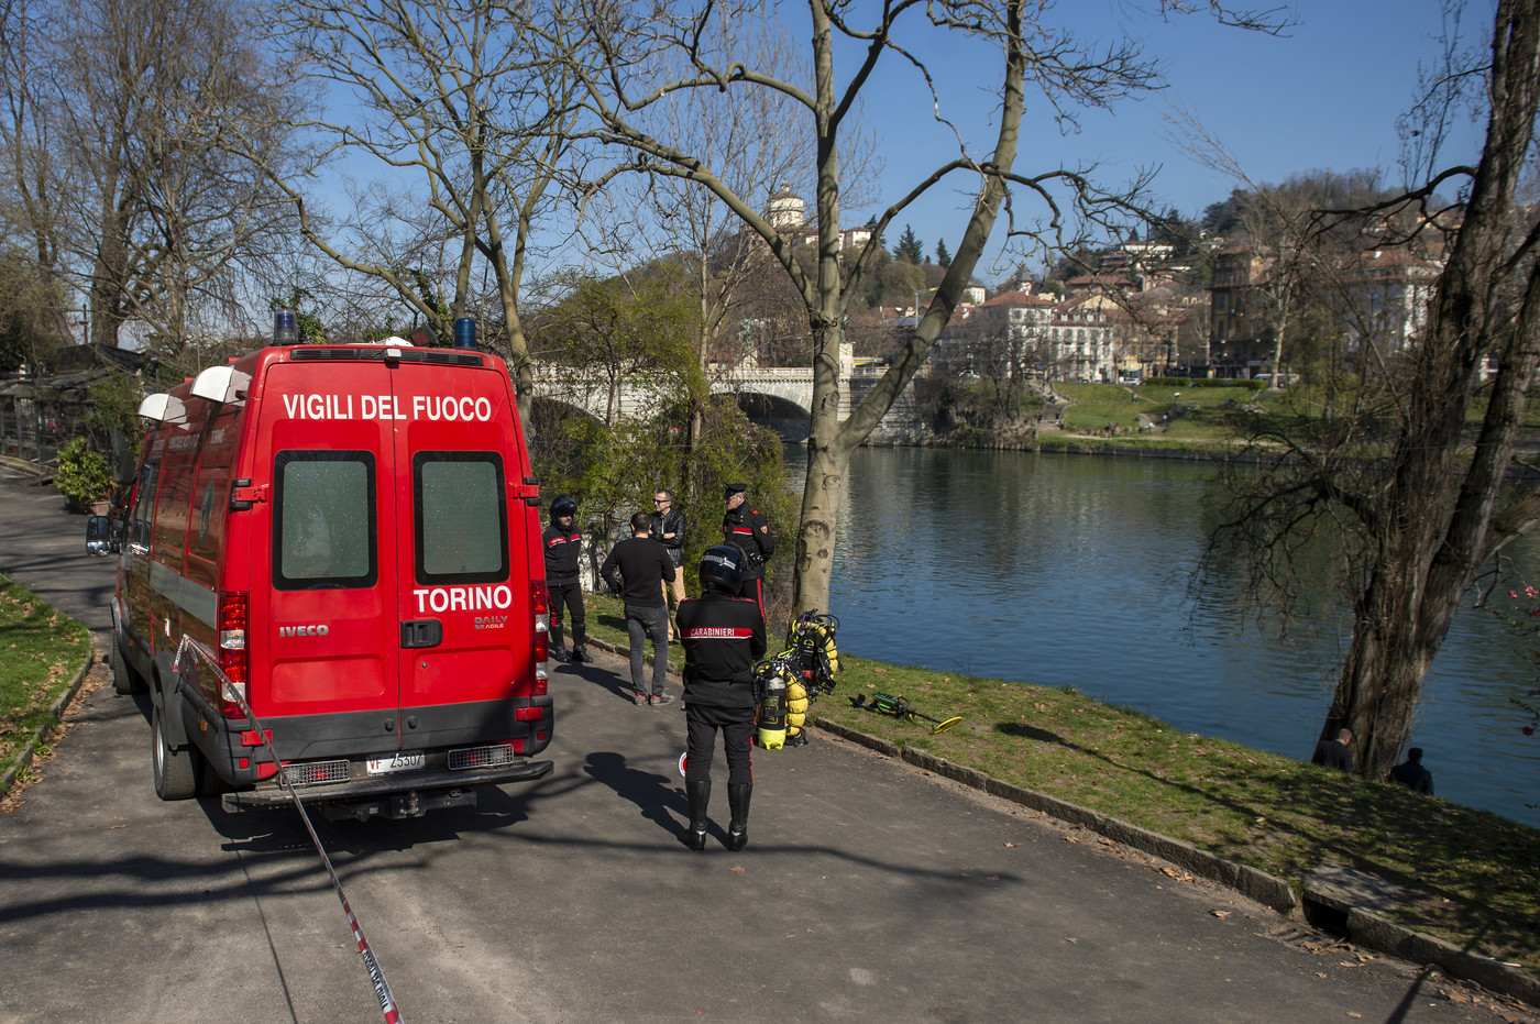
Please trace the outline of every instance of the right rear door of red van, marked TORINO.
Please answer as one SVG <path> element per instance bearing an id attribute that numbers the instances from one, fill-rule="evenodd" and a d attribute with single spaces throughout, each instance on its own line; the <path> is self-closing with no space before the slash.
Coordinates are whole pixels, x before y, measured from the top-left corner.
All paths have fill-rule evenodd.
<path id="1" fill-rule="evenodd" d="M 502 741 L 519 728 L 517 681 L 534 674 L 528 545 L 510 536 L 528 470 L 508 379 L 477 354 L 417 350 L 393 383 L 407 416 L 394 434 L 402 744 Z"/>

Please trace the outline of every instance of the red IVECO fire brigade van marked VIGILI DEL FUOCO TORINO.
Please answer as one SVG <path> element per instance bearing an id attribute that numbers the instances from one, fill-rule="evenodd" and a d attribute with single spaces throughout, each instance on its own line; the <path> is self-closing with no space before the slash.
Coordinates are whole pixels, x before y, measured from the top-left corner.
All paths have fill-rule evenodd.
<path id="1" fill-rule="evenodd" d="M 274 345 L 145 399 L 111 664 L 162 799 L 285 802 L 270 750 L 331 818 L 551 770 L 537 487 L 473 345 Z"/>

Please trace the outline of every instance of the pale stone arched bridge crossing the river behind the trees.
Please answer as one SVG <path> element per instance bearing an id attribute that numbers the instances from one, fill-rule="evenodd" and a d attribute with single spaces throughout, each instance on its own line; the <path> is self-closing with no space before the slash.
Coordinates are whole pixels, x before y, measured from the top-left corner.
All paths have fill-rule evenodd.
<path id="1" fill-rule="evenodd" d="M 839 419 L 882 377 L 886 366 L 856 366 L 850 345 L 839 346 Z M 759 366 L 752 357 L 738 363 L 711 363 L 707 368 L 711 394 L 730 394 L 750 420 L 770 427 L 787 440 L 804 440 L 813 407 L 812 366 Z M 582 410 L 601 422 L 647 416 L 656 408 L 659 388 L 645 376 L 614 382 L 602 377 L 571 377 L 559 368 L 542 366 L 534 373 L 534 400 L 556 402 Z M 915 443 L 924 423 L 915 403 L 915 385 L 899 394 L 867 443 Z"/>

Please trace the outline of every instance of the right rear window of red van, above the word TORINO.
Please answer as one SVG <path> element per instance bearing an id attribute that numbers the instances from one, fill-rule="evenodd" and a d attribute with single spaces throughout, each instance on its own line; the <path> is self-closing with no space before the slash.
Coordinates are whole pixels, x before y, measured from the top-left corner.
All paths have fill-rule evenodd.
<path id="1" fill-rule="evenodd" d="M 411 459 L 417 582 L 508 577 L 508 504 L 496 451 L 419 451 Z"/>

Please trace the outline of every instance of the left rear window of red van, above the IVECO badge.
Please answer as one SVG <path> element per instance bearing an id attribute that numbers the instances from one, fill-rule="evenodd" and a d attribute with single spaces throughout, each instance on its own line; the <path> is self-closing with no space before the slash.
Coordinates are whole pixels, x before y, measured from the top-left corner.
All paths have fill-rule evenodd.
<path id="1" fill-rule="evenodd" d="M 280 451 L 273 465 L 273 585 L 373 587 L 374 454 Z"/>

